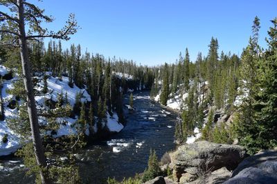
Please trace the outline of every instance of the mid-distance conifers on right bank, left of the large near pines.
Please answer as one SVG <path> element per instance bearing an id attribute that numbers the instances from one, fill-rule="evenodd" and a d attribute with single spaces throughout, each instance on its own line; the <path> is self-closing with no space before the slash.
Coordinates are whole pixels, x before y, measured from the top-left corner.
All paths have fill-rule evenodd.
<path id="1" fill-rule="evenodd" d="M 151 95 L 156 96 L 161 90 L 163 105 L 167 105 L 167 101 L 177 94 L 181 96 L 179 108 L 183 109 L 182 123 L 177 124 L 176 137 L 183 141 L 193 134 L 195 127 L 202 128 L 203 111 L 208 105 L 231 110 L 237 95 L 240 58 L 230 52 L 219 54 L 215 38 L 211 39 L 208 49 L 207 57 L 199 52 L 193 62 L 186 48 L 184 57 L 180 53 L 179 60 L 174 64 L 166 63 L 155 70 Z"/>

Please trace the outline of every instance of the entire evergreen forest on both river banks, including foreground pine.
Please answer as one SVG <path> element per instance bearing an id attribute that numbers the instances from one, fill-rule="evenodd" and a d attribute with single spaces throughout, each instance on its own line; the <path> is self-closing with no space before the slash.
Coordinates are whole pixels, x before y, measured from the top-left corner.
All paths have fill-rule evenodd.
<path id="1" fill-rule="evenodd" d="M 161 105 L 177 102 L 177 143 L 186 143 L 197 127 L 201 132 L 199 140 L 229 144 L 237 141 L 249 154 L 277 146 L 277 19 L 271 21 L 267 48 L 258 43 L 260 19 L 256 17 L 249 44 L 240 56 L 220 52 L 220 41 L 212 37 L 207 56 L 199 52 L 192 61 L 186 48 L 175 63 L 148 67 L 116 57 L 105 58 L 87 52 L 81 45 L 62 48 L 61 39 L 68 40 L 78 30 L 73 15 L 69 25 L 54 33 L 42 28 L 43 21 L 53 19 L 37 6 L 21 0 L 0 4 L 12 12 L 0 12 L 0 64 L 9 68 L 7 74 L 1 75 L 1 86 L 8 81 L 14 86 L 7 91 L 14 96 L 10 101 L 2 101 L 1 96 L 1 121 L 6 120 L 10 130 L 20 135 L 24 146 L 16 155 L 24 159 L 30 169 L 28 174 L 36 174 L 37 182 L 82 183 L 74 151 L 89 141 L 107 138 L 107 122 L 114 116 L 125 125 L 123 96 L 130 94 L 129 105 L 133 108 L 131 92 L 141 90 L 151 90 L 150 96 L 159 97 Z M 45 37 L 55 40 L 45 45 Z M 82 93 L 75 94 L 72 104 L 66 88 L 46 98 L 53 93 L 48 85 L 54 79 Z M 37 104 L 39 96 L 45 97 L 41 106 Z M 16 109 L 17 116 L 6 118 L 6 107 Z M 216 123 L 215 114 L 220 111 L 228 119 L 232 117 L 231 123 Z M 57 136 L 65 119 L 76 119 L 71 125 L 76 133 Z M 5 134 L 0 141 L 7 143 L 10 136 Z M 159 174 L 157 156 L 151 151 L 143 181 Z"/>

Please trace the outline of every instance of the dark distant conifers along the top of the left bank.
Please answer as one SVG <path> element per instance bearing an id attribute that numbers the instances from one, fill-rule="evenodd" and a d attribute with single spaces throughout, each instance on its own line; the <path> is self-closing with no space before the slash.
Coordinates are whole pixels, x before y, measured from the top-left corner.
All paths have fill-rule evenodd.
<path id="1" fill-rule="evenodd" d="M 20 71 L 19 50 L 4 46 L 0 50 L 1 63 Z M 63 50 L 61 41 L 49 41 L 47 48 L 42 41 L 30 41 L 28 53 L 33 76 L 49 71 L 52 76 L 60 79 L 68 76 L 71 88 L 75 83 L 79 88 L 86 88 L 91 95 L 93 114 L 105 116 L 102 113 L 104 109 L 109 114 L 117 112 L 120 122 L 124 121 L 122 94 L 128 89 L 150 89 L 154 80 L 152 69 L 147 66 L 115 57 L 105 59 L 101 54 L 93 55 L 87 51 L 82 54 L 80 45 L 71 45 Z M 75 113 L 80 114 L 81 105 L 77 106 L 78 108 L 74 108 Z M 88 104 L 85 108 L 89 111 Z"/>

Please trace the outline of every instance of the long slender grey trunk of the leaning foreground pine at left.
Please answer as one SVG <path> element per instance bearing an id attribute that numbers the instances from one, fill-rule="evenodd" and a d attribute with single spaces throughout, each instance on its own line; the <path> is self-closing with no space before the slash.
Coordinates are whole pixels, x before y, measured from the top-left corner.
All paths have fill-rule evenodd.
<path id="1" fill-rule="evenodd" d="M 37 108 L 35 104 L 35 96 L 33 92 L 33 82 L 30 71 L 30 63 L 28 58 L 28 48 L 25 33 L 25 23 L 24 23 L 24 4 L 23 0 L 17 0 L 17 5 L 19 6 L 19 11 L 17 18 L 19 19 L 19 45 L 20 45 L 20 55 L 22 63 L 22 71 L 24 76 L 24 85 L 27 93 L 27 106 L 28 106 L 28 116 L 30 121 L 30 129 L 32 132 L 32 139 L 34 145 L 35 159 L 37 160 L 37 165 L 41 167 L 39 171 L 42 183 L 51 183 L 44 169 L 46 168 L 46 159 L 44 156 L 44 148 L 42 147 L 42 139 L 39 132 L 39 123 L 37 118 Z"/>

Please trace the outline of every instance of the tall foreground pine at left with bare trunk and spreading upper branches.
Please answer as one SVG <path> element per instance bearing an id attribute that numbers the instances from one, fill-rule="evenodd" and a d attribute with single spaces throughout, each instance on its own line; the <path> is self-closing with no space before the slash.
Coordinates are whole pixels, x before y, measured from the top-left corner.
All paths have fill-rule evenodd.
<path id="1" fill-rule="evenodd" d="M 43 21 L 52 22 L 53 19 L 44 14 L 44 10 L 35 6 L 28 1 L 1 1 L 2 6 L 6 6 L 9 13 L 0 11 L 1 22 L 0 32 L 1 39 L 3 37 L 12 37 L 10 43 L 19 43 L 21 53 L 22 72 L 24 76 L 24 85 L 27 94 L 28 116 L 33 138 L 33 146 L 35 152 L 35 159 L 39 165 L 39 175 L 42 183 L 51 183 L 48 178 L 46 166 L 46 158 L 44 155 L 44 148 L 39 134 L 39 123 L 37 118 L 37 109 L 35 104 L 35 97 L 33 93 L 32 71 L 30 68 L 30 61 L 28 56 L 28 40 L 36 40 L 43 37 L 69 39 L 69 34 L 76 32 L 76 22 L 74 16 L 71 15 L 68 25 L 59 32 L 48 32 L 47 29 L 42 28 Z M 16 15 L 16 16 L 15 16 Z M 28 32 L 28 34 L 26 34 Z"/>

